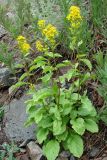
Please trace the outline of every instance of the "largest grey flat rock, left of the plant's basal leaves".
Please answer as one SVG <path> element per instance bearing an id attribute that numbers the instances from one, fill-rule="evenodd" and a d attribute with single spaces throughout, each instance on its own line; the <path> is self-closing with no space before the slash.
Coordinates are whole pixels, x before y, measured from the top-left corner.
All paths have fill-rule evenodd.
<path id="1" fill-rule="evenodd" d="M 4 131 L 9 140 L 17 142 L 35 139 L 34 132 L 36 126 L 24 126 L 24 123 L 28 118 L 25 105 L 25 101 L 28 99 L 29 97 L 27 95 L 23 95 L 19 100 L 14 99 L 9 105 L 4 107 Z"/>

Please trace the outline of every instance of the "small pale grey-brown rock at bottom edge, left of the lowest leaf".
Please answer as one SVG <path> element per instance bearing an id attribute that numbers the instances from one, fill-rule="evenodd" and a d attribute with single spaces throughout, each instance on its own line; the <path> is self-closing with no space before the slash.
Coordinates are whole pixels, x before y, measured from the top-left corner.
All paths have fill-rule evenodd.
<path id="1" fill-rule="evenodd" d="M 31 141 L 27 144 L 28 153 L 31 160 L 40 160 L 42 157 L 42 149 L 34 142 Z"/>

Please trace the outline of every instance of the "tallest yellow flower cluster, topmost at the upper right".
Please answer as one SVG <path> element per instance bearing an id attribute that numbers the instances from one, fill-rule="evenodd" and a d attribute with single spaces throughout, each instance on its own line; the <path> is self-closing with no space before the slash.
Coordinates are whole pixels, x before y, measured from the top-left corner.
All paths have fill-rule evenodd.
<path id="1" fill-rule="evenodd" d="M 70 21 L 73 28 L 78 28 L 82 21 L 80 8 L 77 6 L 71 6 L 67 19 Z"/>

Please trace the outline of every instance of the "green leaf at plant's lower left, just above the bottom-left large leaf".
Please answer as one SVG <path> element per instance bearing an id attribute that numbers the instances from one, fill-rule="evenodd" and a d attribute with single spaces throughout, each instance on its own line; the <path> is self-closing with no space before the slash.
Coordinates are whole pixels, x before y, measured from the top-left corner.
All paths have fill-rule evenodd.
<path id="1" fill-rule="evenodd" d="M 41 144 L 44 140 L 46 140 L 49 131 L 44 128 L 39 128 L 37 132 L 37 140 Z"/>

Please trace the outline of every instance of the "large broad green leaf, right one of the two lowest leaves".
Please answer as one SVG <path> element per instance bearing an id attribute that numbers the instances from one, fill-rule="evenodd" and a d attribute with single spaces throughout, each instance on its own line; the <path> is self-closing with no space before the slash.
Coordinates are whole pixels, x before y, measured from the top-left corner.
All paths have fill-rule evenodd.
<path id="1" fill-rule="evenodd" d="M 82 138 L 74 133 L 69 134 L 67 140 L 67 146 L 70 152 L 75 156 L 80 158 L 83 154 L 83 140 Z"/>

